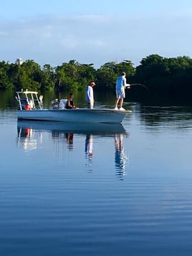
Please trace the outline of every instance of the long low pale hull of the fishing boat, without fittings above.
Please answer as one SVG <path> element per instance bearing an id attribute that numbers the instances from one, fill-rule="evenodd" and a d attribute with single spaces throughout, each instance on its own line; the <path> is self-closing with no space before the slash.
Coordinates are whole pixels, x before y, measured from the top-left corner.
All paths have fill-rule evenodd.
<path id="1" fill-rule="evenodd" d="M 122 123 L 130 113 L 129 110 L 112 109 L 44 109 L 44 110 L 18 110 L 18 120 L 44 120 L 75 123 Z"/>

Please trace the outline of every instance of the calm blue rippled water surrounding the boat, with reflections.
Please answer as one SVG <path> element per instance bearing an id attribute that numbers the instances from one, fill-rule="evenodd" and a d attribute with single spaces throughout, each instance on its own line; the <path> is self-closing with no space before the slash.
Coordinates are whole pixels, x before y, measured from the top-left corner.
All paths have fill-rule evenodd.
<path id="1" fill-rule="evenodd" d="M 1 108 L 1 255 L 192 254 L 191 108 L 127 108 L 114 127 Z"/>

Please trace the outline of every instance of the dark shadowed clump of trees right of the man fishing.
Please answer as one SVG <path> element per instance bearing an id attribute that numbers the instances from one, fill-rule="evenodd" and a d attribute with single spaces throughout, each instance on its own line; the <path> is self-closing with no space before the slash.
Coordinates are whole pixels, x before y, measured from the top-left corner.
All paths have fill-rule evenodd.
<path id="1" fill-rule="evenodd" d="M 135 79 L 146 85 L 151 95 L 180 98 L 192 93 L 192 60 L 189 57 L 145 57 L 136 68 Z"/>

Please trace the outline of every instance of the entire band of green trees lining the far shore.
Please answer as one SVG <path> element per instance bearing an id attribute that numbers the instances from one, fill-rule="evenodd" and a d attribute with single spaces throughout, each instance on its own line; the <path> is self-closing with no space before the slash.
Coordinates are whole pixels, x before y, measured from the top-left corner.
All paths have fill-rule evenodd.
<path id="1" fill-rule="evenodd" d="M 61 66 L 47 64 L 41 67 L 34 60 L 27 60 L 21 65 L 0 62 L 1 90 L 85 90 L 90 80 L 95 80 L 95 90 L 115 90 L 115 81 L 120 73 L 127 74 L 130 84 L 143 84 L 145 87 L 131 87 L 130 97 L 143 98 L 191 98 L 192 94 L 192 59 L 190 57 L 160 57 L 152 54 L 141 60 L 134 67 L 130 60 L 120 63 L 108 62 L 99 69 L 93 64 L 80 64 L 75 60 L 64 62 Z"/>

